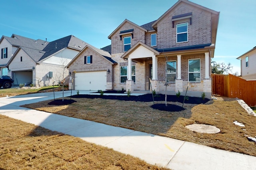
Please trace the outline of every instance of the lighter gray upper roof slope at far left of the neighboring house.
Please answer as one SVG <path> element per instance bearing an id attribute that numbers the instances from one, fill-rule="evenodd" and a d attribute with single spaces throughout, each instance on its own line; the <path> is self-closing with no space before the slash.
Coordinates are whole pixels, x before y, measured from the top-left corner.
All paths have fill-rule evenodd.
<path id="1" fill-rule="evenodd" d="M 29 47 L 31 49 L 42 50 L 49 43 L 42 39 L 30 39 L 27 37 L 22 37 L 20 35 L 12 34 L 11 37 L 3 36 L 11 45 L 16 47 Z"/>

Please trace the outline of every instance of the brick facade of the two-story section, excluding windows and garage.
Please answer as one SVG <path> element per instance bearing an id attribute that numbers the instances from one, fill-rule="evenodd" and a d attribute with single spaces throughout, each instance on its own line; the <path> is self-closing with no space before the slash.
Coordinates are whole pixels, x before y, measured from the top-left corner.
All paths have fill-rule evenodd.
<path id="1" fill-rule="evenodd" d="M 179 16 L 182 14 L 191 14 L 190 17 L 185 17 L 180 20 L 172 21 L 173 16 Z M 214 12 L 215 13 L 215 12 Z M 216 14 L 216 13 L 215 13 Z M 217 14 L 218 15 L 218 14 Z M 191 19 L 191 24 L 190 24 Z M 176 25 L 179 23 L 188 23 L 188 41 L 187 42 L 176 42 Z M 174 27 L 173 27 L 174 24 Z M 128 65 L 128 61 L 122 59 L 123 52 L 123 37 L 131 36 L 131 34 L 122 35 L 122 40 L 120 40 L 120 31 L 134 29 L 133 39 L 131 40 L 131 46 L 133 47 L 138 41 L 148 45 L 150 47 L 150 35 L 152 33 L 156 33 L 157 44 L 153 49 L 171 49 L 175 47 L 190 47 L 194 45 L 204 45 L 212 43 L 212 11 L 207 10 L 206 8 L 200 8 L 198 6 L 194 6 L 190 3 L 187 3 L 184 0 L 179 0 L 175 8 L 168 11 L 157 20 L 157 24 L 154 26 L 157 27 L 156 30 L 144 31 L 140 29 L 138 26 L 129 23 L 128 21 L 123 22 L 119 25 L 118 29 L 115 30 L 111 34 L 111 47 L 112 47 L 112 59 L 115 60 L 118 65 L 114 67 L 114 82 L 113 87 L 114 90 L 120 90 L 121 88 L 126 88 L 126 84 L 120 83 L 120 65 L 126 64 Z M 134 51 L 137 50 L 137 47 L 134 48 Z M 145 49 L 147 50 L 147 49 Z M 132 51 L 132 53 L 134 53 Z M 157 57 L 157 80 L 152 81 L 152 89 L 157 92 L 164 92 L 165 88 L 167 88 L 170 92 L 184 92 L 188 86 L 188 62 L 190 59 L 200 59 L 200 80 L 199 82 L 190 82 L 188 90 L 190 92 L 211 92 L 211 80 L 205 79 L 205 70 L 209 68 L 210 74 L 210 64 L 209 66 L 205 66 L 206 61 L 205 57 L 206 53 L 209 51 L 206 50 L 198 50 L 191 51 L 191 53 L 172 53 L 168 54 L 165 52 L 164 55 L 156 55 Z M 145 51 L 146 53 L 146 51 Z M 136 53 L 137 54 L 137 53 Z M 177 55 L 181 56 L 181 72 L 178 72 L 176 69 L 176 78 L 177 75 L 181 75 L 181 80 L 176 80 L 176 82 L 169 83 L 168 86 L 164 86 L 166 79 L 166 61 L 178 61 Z M 130 54 L 129 54 L 130 56 Z M 134 57 L 134 55 L 133 55 Z M 138 56 L 140 59 L 141 56 Z M 150 56 L 151 58 L 152 56 Z M 127 58 L 126 58 L 127 59 Z M 134 59 L 134 58 L 132 58 Z M 152 58 L 151 58 L 152 59 Z M 143 56 L 142 60 L 144 62 L 136 63 L 136 82 L 132 84 L 132 88 L 134 90 L 149 90 L 150 82 L 150 70 L 149 66 L 152 64 L 152 60 L 149 58 L 145 60 L 145 56 Z M 209 56 L 210 63 L 210 56 Z M 177 63 L 178 64 L 178 63 Z M 178 65 L 177 65 L 178 68 Z M 130 84 L 128 85 L 131 86 Z"/>

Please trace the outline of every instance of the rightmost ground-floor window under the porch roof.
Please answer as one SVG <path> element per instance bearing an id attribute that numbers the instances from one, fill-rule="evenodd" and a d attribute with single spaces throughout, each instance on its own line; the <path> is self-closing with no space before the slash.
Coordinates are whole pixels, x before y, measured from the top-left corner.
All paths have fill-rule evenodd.
<path id="1" fill-rule="evenodd" d="M 188 81 L 200 82 L 200 59 L 188 60 Z"/>

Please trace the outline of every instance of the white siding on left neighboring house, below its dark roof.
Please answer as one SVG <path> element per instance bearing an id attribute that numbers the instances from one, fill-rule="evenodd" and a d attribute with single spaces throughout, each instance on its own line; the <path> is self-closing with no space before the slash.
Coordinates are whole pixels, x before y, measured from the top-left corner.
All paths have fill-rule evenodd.
<path id="1" fill-rule="evenodd" d="M 67 65 L 77 54 L 79 51 L 73 49 L 64 49 L 54 56 L 46 59 L 42 63 L 47 64 L 56 64 L 56 65 Z"/>

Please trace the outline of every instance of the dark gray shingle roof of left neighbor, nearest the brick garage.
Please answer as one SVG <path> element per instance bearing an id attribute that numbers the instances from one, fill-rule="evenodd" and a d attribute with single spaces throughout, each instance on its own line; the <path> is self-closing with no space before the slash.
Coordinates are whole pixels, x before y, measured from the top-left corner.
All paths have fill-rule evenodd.
<path id="1" fill-rule="evenodd" d="M 41 61 L 46 57 L 49 57 L 66 47 L 81 51 L 85 47 L 85 45 L 86 45 L 86 42 L 76 38 L 73 35 L 69 35 L 67 37 L 57 39 L 55 41 L 48 43 L 48 45 L 46 45 L 46 47 L 42 49 L 42 51 L 45 51 L 45 53 L 38 61 Z"/>

